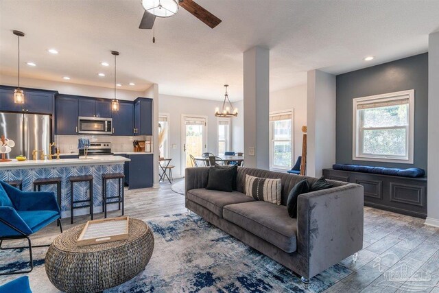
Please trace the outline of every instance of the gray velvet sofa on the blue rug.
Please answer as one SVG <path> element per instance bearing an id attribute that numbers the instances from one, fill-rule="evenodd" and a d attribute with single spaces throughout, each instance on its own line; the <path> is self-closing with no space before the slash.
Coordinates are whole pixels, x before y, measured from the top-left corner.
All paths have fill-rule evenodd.
<path id="1" fill-rule="evenodd" d="M 244 193 L 246 174 L 281 178 L 281 205 Z M 331 181 L 334 187 L 301 194 L 298 217 L 287 212 L 289 191 L 304 178 L 239 167 L 233 192 L 205 189 L 209 167 L 186 169 L 186 207 L 204 220 L 283 264 L 307 282 L 363 246 L 363 187 Z M 307 177 L 312 184 L 316 178 Z"/>

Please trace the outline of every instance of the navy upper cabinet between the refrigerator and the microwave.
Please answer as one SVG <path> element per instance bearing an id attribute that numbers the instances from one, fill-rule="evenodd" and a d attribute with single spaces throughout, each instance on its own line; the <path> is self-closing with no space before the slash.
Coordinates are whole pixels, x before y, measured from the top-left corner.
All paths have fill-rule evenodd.
<path id="1" fill-rule="evenodd" d="M 55 133 L 78 134 L 78 98 L 58 95 L 55 101 Z"/>

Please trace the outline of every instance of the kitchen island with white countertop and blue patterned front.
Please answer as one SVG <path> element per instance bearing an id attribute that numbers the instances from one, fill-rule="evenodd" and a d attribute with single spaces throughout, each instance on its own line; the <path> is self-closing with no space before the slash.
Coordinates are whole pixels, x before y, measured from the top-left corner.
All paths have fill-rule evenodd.
<path id="1" fill-rule="evenodd" d="M 102 174 L 123 173 L 123 164 L 130 159 L 123 156 L 93 156 L 88 159 L 27 160 L 15 159 L 0 163 L 0 180 L 23 180 L 23 191 L 32 191 L 38 178 L 61 178 L 62 218 L 70 217 L 70 176 L 93 175 L 93 210 L 102 211 Z M 88 183 L 75 183 L 75 200 L 88 198 Z M 41 191 L 54 191 L 55 185 L 42 186 Z M 117 192 L 117 181 L 108 181 L 108 194 Z M 108 211 L 118 209 L 117 204 L 108 204 Z M 88 208 L 75 210 L 75 215 L 86 215 Z"/>

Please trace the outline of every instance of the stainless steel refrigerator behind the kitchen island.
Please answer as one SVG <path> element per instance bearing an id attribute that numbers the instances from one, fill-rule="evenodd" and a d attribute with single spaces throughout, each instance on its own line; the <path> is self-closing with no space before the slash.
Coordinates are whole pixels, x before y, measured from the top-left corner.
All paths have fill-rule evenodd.
<path id="1" fill-rule="evenodd" d="M 50 115 L 0 113 L 0 135 L 15 141 L 14 148 L 7 154 L 9 159 L 20 154 L 32 159 L 33 150 L 43 150 L 45 154 L 49 154 Z"/>

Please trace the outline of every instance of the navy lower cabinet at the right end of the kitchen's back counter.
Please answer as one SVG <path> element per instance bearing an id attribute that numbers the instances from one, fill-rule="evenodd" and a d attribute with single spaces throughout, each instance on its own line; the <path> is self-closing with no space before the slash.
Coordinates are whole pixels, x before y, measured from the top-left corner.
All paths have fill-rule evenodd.
<path id="1" fill-rule="evenodd" d="M 128 189 L 152 187 L 154 183 L 153 154 L 117 154 L 130 159 L 123 166 L 125 183 Z"/>

